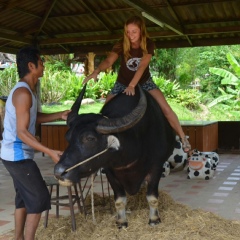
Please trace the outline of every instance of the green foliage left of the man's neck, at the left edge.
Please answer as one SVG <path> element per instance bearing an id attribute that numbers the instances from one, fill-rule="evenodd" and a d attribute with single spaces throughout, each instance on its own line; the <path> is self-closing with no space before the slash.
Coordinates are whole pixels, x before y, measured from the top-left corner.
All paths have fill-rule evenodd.
<path id="1" fill-rule="evenodd" d="M 11 66 L 0 71 L 0 96 L 8 96 L 18 80 L 16 66 Z"/>

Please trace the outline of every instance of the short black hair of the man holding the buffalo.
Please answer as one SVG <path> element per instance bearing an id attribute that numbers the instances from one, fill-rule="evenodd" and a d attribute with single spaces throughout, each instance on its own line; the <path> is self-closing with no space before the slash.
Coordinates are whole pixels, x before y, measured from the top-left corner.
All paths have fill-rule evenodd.
<path id="1" fill-rule="evenodd" d="M 28 63 L 32 62 L 38 67 L 40 51 L 34 46 L 21 48 L 17 53 L 17 70 L 19 78 L 23 78 L 29 73 Z"/>

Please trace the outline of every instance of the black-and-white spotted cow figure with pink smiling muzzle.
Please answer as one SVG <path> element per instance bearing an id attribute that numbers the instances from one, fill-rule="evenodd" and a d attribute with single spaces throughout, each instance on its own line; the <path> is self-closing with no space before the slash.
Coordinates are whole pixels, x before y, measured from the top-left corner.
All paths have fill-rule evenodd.
<path id="1" fill-rule="evenodd" d="M 194 151 L 188 159 L 188 179 L 209 180 L 214 175 L 212 160 L 202 155 L 201 152 Z"/>

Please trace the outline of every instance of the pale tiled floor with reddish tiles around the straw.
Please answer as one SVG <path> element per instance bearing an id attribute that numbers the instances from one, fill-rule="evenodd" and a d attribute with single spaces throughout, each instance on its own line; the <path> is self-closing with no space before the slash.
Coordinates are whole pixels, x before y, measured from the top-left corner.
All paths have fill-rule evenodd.
<path id="1" fill-rule="evenodd" d="M 160 181 L 160 189 L 167 191 L 176 201 L 192 208 L 215 212 L 227 219 L 240 220 L 240 155 L 220 154 L 220 162 L 211 180 L 189 180 L 186 171 L 172 172 Z M 35 158 L 44 176 L 52 175 L 53 162 L 41 153 Z M 101 192 L 99 176 L 94 191 Z M 107 192 L 106 179 L 104 189 Z M 66 188 L 61 187 L 61 191 Z M 0 161 L 0 237 L 14 228 L 14 190 L 12 180 Z M 50 214 L 55 213 L 55 208 Z M 60 214 L 69 215 L 68 208 Z M 3 239 L 3 238 L 0 238 Z"/>

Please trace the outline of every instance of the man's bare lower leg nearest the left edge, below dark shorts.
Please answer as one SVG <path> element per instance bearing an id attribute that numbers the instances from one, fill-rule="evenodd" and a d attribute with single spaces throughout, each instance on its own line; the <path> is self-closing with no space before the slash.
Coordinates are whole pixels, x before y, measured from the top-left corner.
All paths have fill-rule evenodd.
<path id="1" fill-rule="evenodd" d="M 27 213 L 26 208 L 17 208 L 15 210 L 15 239 L 24 240 L 24 227 Z"/>

